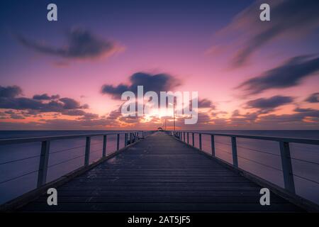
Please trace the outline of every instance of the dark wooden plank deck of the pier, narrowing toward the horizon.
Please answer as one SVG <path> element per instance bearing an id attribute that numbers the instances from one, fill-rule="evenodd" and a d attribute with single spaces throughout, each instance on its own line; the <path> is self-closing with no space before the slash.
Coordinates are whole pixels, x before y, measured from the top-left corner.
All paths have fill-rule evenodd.
<path id="1" fill-rule="evenodd" d="M 155 133 L 21 211 L 302 211 L 165 133 Z"/>

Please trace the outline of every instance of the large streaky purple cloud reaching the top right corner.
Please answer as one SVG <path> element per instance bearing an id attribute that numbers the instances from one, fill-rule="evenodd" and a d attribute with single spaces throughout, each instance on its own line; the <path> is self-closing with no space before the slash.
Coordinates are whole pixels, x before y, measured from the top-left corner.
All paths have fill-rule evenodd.
<path id="1" fill-rule="evenodd" d="M 311 33 L 319 26 L 318 0 L 269 0 L 269 22 L 259 20 L 259 6 L 262 3 L 265 2 L 255 1 L 238 13 L 233 21 L 218 33 L 217 38 L 220 40 L 216 40 L 217 45 L 211 48 L 235 52 L 233 67 L 245 64 L 254 52 L 275 38 L 299 38 L 301 34 Z"/>

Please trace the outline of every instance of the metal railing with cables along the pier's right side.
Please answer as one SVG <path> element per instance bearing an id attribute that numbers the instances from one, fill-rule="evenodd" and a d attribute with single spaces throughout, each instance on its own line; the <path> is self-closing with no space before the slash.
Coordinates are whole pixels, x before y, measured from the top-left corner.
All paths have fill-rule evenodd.
<path id="1" fill-rule="evenodd" d="M 290 152 L 290 148 L 289 148 L 289 143 L 303 143 L 303 144 L 309 144 L 309 145 L 319 145 L 319 140 L 315 140 L 315 139 L 303 139 L 303 138 L 281 138 L 281 137 L 269 137 L 269 136 L 257 136 L 257 135 L 236 135 L 236 134 L 225 134 L 225 133 L 205 133 L 205 132 L 194 132 L 194 131 L 172 131 L 171 132 L 172 135 L 174 135 L 176 138 L 178 138 L 179 140 L 181 140 L 184 143 L 187 143 L 189 145 L 192 145 L 193 147 L 195 147 L 195 140 L 194 140 L 194 135 L 198 134 L 198 149 L 199 150 L 203 150 L 202 148 L 202 135 L 211 135 L 211 155 L 213 157 L 216 157 L 216 143 L 220 143 L 217 142 L 215 140 L 215 136 L 225 136 L 225 137 L 229 137 L 231 138 L 231 153 L 228 153 L 227 151 L 224 151 L 225 153 L 228 153 L 229 155 L 231 155 L 232 160 L 233 160 L 233 166 L 237 167 L 238 169 L 240 169 L 238 167 L 238 157 L 241 157 L 243 159 L 246 160 L 250 160 L 247 157 L 242 157 L 240 155 L 237 154 L 237 148 L 243 148 L 237 145 L 237 138 L 247 138 L 247 139 L 254 139 L 254 140 L 271 140 L 271 141 L 276 141 L 279 143 L 279 150 L 280 150 L 280 155 L 278 155 L 279 157 L 281 157 L 281 169 L 276 169 L 274 167 L 272 167 L 273 169 L 282 171 L 283 176 L 284 176 L 284 189 L 286 189 L 286 191 L 291 192 L 292 194 L 296 194 L 296 189 L 295 189 L 295 183 L 293 180 L 293 176 L 296 177 L 300 177 L 302 179 L 306 179 L 310 182 L 313 182 L 315 184 L 319 184 L 319 182 L 316 182 L 313 179 L 307 179 L 305 177 L 293 174 L 293 167 L 291 165 L 291 160 L 300 160 L 298 158 L 294 158 L 291 157 L 291 152 Z M 191 134 L 191 141 L 192 143 L 189 143 L 189 138 L 190 138 L 190 134 Z M 264 151 L 260 151 L 260 150 L 256 150 L 256 149 L 252 149 L 252 148 L 245 148 L 248 150 L 252 150 L 255 152 L 261 152 L 261 153 L 265 153 Z M 319 148 L 318 148 L 319 150 Z M 272 153 L 268 153 L 269 155 L 276 155 L 276 154 L 272 154 Z M 254 160 L 250 160 L 252 162 L 256 162 Z M 319 165 L 319 163 L 317 162 L 310 162 L 308 160 L 301 160 L 304 162 L 308 162 L 308 163 L 313 163 L 315 165 Z M 257 162 L 259 165 L 264 165 L 260 162 Z M 267 166 L 267 165 L 265 165 Z M 269 167 L 269 166 L 268 166 Z"/>

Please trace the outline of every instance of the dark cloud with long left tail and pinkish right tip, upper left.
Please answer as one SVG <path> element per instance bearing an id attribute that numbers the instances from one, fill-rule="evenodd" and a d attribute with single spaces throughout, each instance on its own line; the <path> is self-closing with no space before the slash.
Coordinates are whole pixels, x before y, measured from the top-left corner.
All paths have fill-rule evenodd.
<path id="1" fill-rule="evenodd" d="M 17 35 L 17 38 L 22 45 L 35 51 L 67 58 L 91 59 L 105 55 L 109 56 L 123 50 L 115 42 L 102 40 L 83 28 L 70 29 L 67 33 L 68 43 L 61 48 L 30 40 L 23 35 Z"/>

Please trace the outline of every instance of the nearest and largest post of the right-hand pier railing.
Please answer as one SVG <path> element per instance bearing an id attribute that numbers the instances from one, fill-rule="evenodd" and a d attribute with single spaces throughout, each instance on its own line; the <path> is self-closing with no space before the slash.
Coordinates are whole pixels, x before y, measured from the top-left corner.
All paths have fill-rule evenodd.
<path id="1" fill-rule="evenodd" d="M 288 142 L 279 142 L 280 155 L 281 155 L 281 166 L 284 175 L 285 189 L 293 194 L 295 191 L 295 182 L 293 181 L 293 169 L 291 165 L 290 148 Z"/>

